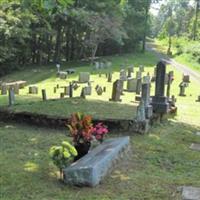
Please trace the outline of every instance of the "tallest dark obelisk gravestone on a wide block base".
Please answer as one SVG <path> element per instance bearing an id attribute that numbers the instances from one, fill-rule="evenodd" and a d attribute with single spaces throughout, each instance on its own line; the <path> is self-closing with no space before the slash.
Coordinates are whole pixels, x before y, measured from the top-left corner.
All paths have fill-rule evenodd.
<path id="1" fill-rule="evenodd" d="M 166 65 L 160 61 L 156 67 L 156 86 L 155 96 L 152 97 L 153 111 L 159 114 L 165 114 L 169 110 L 168 98 L 165 97 L 165 73 Z"/>

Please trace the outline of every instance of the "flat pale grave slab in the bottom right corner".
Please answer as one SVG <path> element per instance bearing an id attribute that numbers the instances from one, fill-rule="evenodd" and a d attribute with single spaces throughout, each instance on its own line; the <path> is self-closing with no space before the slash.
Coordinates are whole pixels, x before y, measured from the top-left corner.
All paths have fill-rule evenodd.
<path id="1" fill-rule="evenodd" d="M 200 200 L 200 188 L 184 186 L 182 188 L 183 200 Z"/>

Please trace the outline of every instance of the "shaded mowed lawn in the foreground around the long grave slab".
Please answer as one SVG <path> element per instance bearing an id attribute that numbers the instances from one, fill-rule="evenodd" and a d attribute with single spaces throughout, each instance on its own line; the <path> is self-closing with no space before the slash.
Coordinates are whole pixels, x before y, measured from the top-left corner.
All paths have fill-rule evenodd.
<path id="1" fill-rule="evenodd" d="M 200 155 L 189 149 L 199 142 L 200 127 L 177 121 L 156 125 L 149 135 L 131 136 L 128 158 L 95 188 L 59 182 L 48 150 L 70 140 L 67 131 L 16 124 L 0 125 L 0 196 L 2 200 L 179 200 L 178 186 L 200 187 Z M 111 133 L 117 137 L 123 133 Z"/>

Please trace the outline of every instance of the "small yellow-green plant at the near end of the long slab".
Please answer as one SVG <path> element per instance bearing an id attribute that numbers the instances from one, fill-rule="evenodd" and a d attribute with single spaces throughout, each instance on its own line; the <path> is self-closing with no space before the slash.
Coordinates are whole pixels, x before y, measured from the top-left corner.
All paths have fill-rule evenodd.
<path id="1" fill-rule="evenodd" d="M 77 151 L 69 142 L 63 141 L 61 146 L 52 146 L 49 155 L 53 163 L 59 168 L 60 178 L 63 179 L 63 169 L 73 162 L 74 157 L 77 156 Z"/>

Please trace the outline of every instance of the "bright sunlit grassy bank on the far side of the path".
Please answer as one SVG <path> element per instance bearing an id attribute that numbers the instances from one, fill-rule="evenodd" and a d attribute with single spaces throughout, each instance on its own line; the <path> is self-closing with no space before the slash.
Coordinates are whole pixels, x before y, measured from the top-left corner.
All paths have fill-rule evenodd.
<path id="1" fill-rule="evenodd" d="M 167 48 L 168 48 L 168 40 L 157 39 L 155 40 L 155 42 L 157 44 L 157 49 L 161 51 L 162 53 L 166 54 Z M 184 38 L 173 38 L 172 39 L 172 55 L 173 55 L 173 58 L 177 62 L 184 64 L 197 72 L 200 72 L 200 63 L 198 63 L 191 54 L 186 53 L 184 50 L 187 47 L 191 46 L 191 44 L 198 45 L 198 41 L 194 42 L 194 41 L 188 41 Z M 181 46 L 182 49 L 184 50 L 182 54 L 178 53 L 179 50 L 177 48 L 177 45 Z"/>

